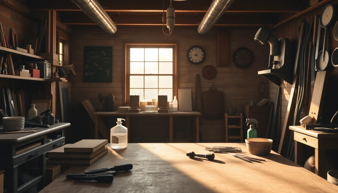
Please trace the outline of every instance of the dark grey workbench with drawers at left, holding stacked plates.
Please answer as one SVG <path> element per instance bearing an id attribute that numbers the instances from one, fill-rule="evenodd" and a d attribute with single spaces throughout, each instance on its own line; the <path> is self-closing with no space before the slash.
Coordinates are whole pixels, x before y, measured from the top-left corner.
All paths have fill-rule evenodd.
<path id="1" fill-rule="evenodd" d="M 23 193 L 38 184 L 41 190 L 45 186 L 46 152 L 65 144 L 64 128 L 70 123 L 58 123 L 50 128 L 37 128 L 35 132 L 0 135 L 0 169 L 5 170 L 4 184 L 7 192 Z M 58 135 L 46 142 L 47 135 Z M 17 149 L 29 143 L 41 143 L 32 149 L 16 153 Z M 18 166 L 38 158 L 39 176 L 18 187 Z"/>

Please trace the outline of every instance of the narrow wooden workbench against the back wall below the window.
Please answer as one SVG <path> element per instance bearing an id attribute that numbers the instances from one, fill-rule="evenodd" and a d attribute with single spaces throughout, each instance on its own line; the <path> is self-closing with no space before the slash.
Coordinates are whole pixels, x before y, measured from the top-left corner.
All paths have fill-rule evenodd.
<path id="1" fill-rule="evenodd" d="M 130 129 L 129 127 L 129 121 L 130 117 L 132 116 L 169 116 L 169 142 L 173 142 L 173 116 L 193 116 L 195 121 L 195 130 L 193 130 L 193 137 L 192 139 L 196 139 L 196 142 L 199 142 L 199 119 L 198 117 L 202 114 L 198 111 L 178 111 L 173 113 L 119 113 L 119 112 L 96 112 L 95 115 L 95 139 L 98 139 L 99 136 L 99 117 L 100 116 L 125 116 L 126 117 L 126 127 Z M 128 142 L 130 142 L 129 139 L 129 130 L 128 130 Z"/>

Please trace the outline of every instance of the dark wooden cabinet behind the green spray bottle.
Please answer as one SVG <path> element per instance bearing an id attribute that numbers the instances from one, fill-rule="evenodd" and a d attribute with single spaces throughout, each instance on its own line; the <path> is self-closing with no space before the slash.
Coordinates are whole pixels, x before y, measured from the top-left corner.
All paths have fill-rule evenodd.
<path id="1" fill-rule="evenodd" d="M 270 106 L 243 106 L 244 118 L 243 121 L 245 122 L 246 119 L 256 119 L 258 123 L 258 128 L 255 125 L 255 129 L 257 130 L 257 137 L 258 138 L 266 138 L 266 129 L 268 124 Z M 250 128 L 249 125 L 245 124 L 244 127 L 244 136 L 246 136 L 248 129 Z"/>

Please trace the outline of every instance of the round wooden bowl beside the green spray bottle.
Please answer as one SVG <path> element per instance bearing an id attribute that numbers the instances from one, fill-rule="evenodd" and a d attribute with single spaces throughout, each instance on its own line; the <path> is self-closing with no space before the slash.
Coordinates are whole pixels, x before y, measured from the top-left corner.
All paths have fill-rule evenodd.
<path id="1" fill-rule="evenodd" d="M 272 147 L 272 140 L 265 138 L 245 139 L 246 148 L 254 155 L 269 155 Z"/>

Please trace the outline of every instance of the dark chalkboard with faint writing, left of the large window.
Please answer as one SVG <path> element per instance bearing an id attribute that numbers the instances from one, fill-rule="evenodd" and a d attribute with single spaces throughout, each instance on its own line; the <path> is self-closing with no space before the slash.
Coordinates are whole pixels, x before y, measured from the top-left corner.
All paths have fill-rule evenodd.
<path id="1" fill-rule="evenodd" d="M 112 46 L 84 46 L 83 82 L 112 82 L 112 69 Z"/>

